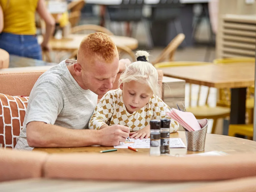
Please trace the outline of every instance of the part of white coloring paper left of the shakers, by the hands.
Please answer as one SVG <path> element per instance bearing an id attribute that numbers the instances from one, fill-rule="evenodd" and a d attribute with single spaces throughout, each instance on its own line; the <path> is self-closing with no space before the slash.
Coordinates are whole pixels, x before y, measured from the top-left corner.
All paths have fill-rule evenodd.
<path id="1" fill-rule="evenodd" d="M 114 146 L 114 148 L 150 148 L 150 139 L 132 139 L 126 140 L 125 143 L 121 142 L 120 145 Z"/>

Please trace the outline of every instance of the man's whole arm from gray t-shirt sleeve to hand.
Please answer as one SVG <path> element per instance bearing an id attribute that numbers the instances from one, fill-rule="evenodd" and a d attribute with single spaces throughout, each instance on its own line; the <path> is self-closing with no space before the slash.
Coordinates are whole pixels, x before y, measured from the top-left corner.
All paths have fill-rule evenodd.
<path id="1" fill-rule="evenodd" d="M 33 88 L 29 97 L 30 107 L 26 111 L 27 122 L 24 122 L 30 147 L 114 146 L 129 136 L 128 127 L 117 126 L 115 129 L 97 131 L 73 130 L 54 125 L 63 108 L 62 100 L 59 90 L 51 83 Z"/>

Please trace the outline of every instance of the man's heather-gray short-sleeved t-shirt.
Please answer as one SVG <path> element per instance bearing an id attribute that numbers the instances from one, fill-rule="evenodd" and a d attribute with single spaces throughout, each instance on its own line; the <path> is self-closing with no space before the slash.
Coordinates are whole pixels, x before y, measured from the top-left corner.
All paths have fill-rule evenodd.
<path id="1" fill-rule="evenodd" d="M 26 125 L 31 121 L 42 121 L 69 129 L 88 129 L 98 96 L 78 85 L 66 66 L 72 63 L 75 60 L 62 61 L 36 81 L 29 96 L 23 129 L 17 137 L 15 149 L 33 149 L 28 146 L 26 135 Z"/>

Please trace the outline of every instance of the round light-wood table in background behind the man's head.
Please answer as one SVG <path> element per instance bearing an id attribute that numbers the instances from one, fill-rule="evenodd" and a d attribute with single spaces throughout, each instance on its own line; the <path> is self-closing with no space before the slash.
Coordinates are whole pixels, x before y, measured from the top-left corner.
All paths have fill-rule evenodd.
<path id="1" fill-rule="evenodd" d="M 74 51 L 79 48 L 79 45 L 86 34 L 70 34 L 68 38 L 54 39 L 52 38 L 49 43 L 53 50 L 58 51 Z M 126 46 L 134 50 L 138 47 L 138 40 L 131 37 L 124 36 L 111 36 L 117 46 Z M 38 37 L 38 43 L 43 41 L 43 37 Z"/>

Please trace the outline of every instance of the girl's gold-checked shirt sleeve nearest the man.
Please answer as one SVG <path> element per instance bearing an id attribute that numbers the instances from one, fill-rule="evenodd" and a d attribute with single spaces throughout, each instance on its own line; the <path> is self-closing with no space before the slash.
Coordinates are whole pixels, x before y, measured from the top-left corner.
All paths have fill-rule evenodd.
<path id="1" fill-rule="evenodd" d="M 107 125 L 113 116 L 113 95 L 106 93 L 97 104 L 93 115 L 89 121 L 89 129 L 99 130 L 102 125 Z"/>

